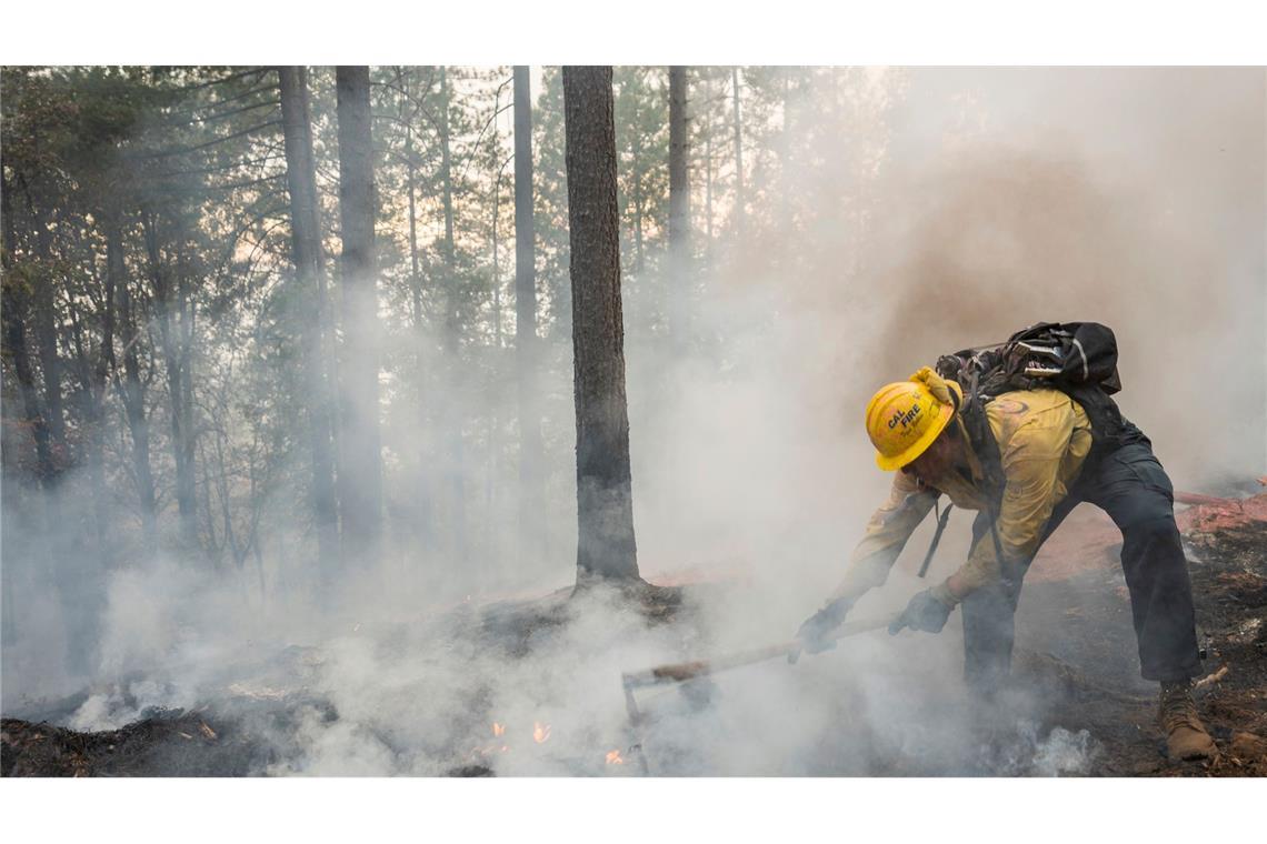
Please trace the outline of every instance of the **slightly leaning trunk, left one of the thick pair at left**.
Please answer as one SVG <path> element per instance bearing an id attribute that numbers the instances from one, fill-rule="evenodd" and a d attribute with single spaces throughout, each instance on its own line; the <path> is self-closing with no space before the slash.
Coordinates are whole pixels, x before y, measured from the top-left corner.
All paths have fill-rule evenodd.
<path id="1" fill-rule="evenodd" d="M 290 189 L 290 243 L 303 302 L 300 324 L 305 333 L 304 377 L 308 383 L 313 524 L 317 531 L 318 564 L 322 573 L 329 576 L 338 562 L 338 511 L 334 497 L 332 402 L 326 378 L 326 262 L 322 254 L 317 167 L 308 106 L 308 71 L 304 67 L 279 67 L 277 77 L 286 147 L 286 185 Z"/>

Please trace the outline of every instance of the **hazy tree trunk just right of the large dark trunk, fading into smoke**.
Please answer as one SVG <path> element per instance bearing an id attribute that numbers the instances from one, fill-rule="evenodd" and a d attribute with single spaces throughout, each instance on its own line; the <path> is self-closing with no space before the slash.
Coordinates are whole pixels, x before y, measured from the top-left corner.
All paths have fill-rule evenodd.
<path id="1" fill-rule="evenodd" d="M 687 68 L 669 68 L 669 338 L 687 339 L 687 285 L 691 278 L 691 173 L 687 161 Z"/>

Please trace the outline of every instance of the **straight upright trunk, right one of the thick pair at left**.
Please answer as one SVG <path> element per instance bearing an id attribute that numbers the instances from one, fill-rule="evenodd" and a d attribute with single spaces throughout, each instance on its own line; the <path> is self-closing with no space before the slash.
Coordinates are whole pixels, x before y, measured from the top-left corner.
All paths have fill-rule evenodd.
<path id="1" fill-rule="evenodd" d="M 343 559 L 378 559 L 383 531 L 379 433 L 378 268 L 370 68 L 338 67 L 338 208 L 343 238 L 343 356 L 340 504 Z"/>

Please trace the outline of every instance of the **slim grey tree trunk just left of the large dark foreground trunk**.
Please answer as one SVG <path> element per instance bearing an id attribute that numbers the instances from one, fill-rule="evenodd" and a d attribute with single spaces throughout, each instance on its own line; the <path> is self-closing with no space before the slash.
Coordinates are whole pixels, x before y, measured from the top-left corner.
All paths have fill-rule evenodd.
<path id="1" fill-rule="evenodd" d="M 541 413 L 537 409 L 537 248 L 532 220 L 532 94 L 528 68 L 514 68 L 514 359 L 519 405 L 519 533 L 544 537 Z"/>

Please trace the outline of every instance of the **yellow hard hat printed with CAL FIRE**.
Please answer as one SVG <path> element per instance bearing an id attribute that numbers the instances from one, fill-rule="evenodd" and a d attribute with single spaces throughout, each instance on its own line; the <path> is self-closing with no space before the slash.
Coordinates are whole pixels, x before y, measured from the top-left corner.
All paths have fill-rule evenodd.
<path id="1" fill-rule="evenodd" d="M 875 464 L 892 472 L 917 458 L 945 430 L 954 411 L 953 402 L 939 401 L 921 381 L 881 387 L 867 404 L 867 435 L 875 445 Z"/>

